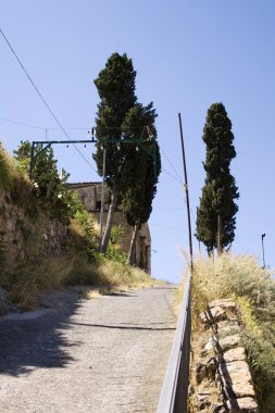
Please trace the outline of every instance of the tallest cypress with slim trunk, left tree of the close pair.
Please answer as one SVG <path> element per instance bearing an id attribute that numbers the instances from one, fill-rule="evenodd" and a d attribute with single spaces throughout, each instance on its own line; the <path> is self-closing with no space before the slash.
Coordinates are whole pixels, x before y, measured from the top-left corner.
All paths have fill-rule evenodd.
<path id="1" fill-rule="evenodd" d="M 125 163 L 133 157 L 132 145 L 118 146 L 108 143 L 108 141 L 123 139 L 122 124 L 127 112 L 137 102 L 135 79 L 136 72 L 132 60 L 126 54 L 113 53 L 95 80 L 100 102 L 96 117 L 98 143 L 93 159 L 97 162 L 98 172 L 102 176 L 104 146 L 107 150 L 105 182 L 111 190 L 111 204 L 102 245 L 103 252 L 107 251 L 109 243 L 117 199 L 125 191 L 125 186 L 129 179 Z"/>

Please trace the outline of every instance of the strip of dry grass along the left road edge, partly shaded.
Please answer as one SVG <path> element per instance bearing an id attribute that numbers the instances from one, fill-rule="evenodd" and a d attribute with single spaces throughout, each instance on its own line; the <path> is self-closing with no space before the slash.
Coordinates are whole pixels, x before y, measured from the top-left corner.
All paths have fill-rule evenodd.
<path id="1" fill-rule="evenodd" d="M 87 262 L 82 255 L 52 258 L 40 265 L 22 266 L 9 279 L 10 299 L 22 310 L 39 304 L 43 291 L 60 289 L 67 285 L 87 286 L 82 288 L 83 297 L 98 298 L 104 293 L 124 292 L 129 288 L 148 288 L 157 283 L 143 271 L 105 261 L 99 267 Z"/>

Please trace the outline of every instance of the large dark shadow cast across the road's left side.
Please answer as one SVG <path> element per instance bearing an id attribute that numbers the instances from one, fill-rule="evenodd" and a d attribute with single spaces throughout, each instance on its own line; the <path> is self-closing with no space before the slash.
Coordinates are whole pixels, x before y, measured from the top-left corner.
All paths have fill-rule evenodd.
<path id="1" fill-rule="evenodd" d="M 66 349 L 80 342 L 68 342 L 63 330 L 79 306 L 78 293 L 55 292 L 49 306 L 35 320 L 0 318 L 0 374 L 18 376 L 37 367 L 65 367 L 74 361 Z"/>

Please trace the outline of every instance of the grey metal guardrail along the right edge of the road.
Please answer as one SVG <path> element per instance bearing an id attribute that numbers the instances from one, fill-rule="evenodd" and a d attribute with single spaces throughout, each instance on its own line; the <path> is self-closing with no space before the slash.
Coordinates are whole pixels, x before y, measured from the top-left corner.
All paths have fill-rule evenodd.
<path id="1" fill-rule="evenodd" d="M 190 336 L 191 311 L 189 275 L 157 413 L 187 412 Z"/>

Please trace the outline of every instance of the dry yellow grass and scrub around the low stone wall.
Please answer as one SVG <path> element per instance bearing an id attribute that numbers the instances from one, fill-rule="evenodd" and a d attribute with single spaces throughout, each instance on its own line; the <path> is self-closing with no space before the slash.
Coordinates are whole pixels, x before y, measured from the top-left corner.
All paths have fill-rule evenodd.
<path id="1" fill-rule="evenodd" d="M 238 303 L 242 342 L 261 412 L 275 405 L 275 280 L 251 255 L 223 253 L 216 260 L 199 258 L 192 276 L 192 328 L 209 301 L 232 297 Z"/>

